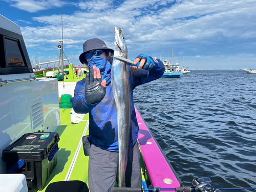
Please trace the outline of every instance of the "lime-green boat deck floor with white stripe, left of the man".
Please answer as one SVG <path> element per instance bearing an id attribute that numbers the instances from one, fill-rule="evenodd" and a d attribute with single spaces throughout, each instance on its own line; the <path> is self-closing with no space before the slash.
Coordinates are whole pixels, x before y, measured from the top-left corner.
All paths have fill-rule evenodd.
<path id="1" fill-rule="evenodd" d="M 62 125 L 55 131 L 60 136 L 57 165 L 41 191 L 45 191 L 50 183 L 56 181 L 80 180 L 88 184 L 89 157 L 83 154 L 81 139 L 82 136 L 89 134 L 89 114 L 86 114 L 83 121 L 78 124 L 71 124 L 70 111 L 71 109 L 60 109 Z M 72 167 L 73 161 L 75 163 Z"/>

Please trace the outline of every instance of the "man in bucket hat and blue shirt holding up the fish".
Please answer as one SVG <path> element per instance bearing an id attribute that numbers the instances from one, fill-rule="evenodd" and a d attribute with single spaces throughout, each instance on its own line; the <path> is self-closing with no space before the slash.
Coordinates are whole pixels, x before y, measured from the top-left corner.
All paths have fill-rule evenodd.
<path id="1" fill-rule="evenodd" d="M 111 63 L 114 50 L 106 47 L 104 41 L 94 38 L 83 44 L 81 63 L 90 67 L 90 74 L 79 82 L 71 99 L 76 113 L 89 113 L 89 138 L 91 140 L 89 159 L 89 188 L 91 192 L 110 191 L 118 181 L 118 134 L 117 113 L 111 84 Z M 164 73 L 159 59 L 140 54 L 134 61 L 138 68 L 131 67 L 131 87 L 160 78 Z M 143 70 L 141 70 L 143 69 Z M 102 80 L 103 79 L 103 80 Z M 130 145 L 125 175 L 126 187 L 141 187 L 140 152 L 138 131 L 132 95 L 132 119 Z"/>

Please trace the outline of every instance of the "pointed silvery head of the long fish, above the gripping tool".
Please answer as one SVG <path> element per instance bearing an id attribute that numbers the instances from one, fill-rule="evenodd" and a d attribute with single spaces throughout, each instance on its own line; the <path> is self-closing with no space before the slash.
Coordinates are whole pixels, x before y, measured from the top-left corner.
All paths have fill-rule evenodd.
<path id="1" fill-rule="evenodd" d="M 126 42 L 125 42 L 123 32 L 122 32 L 121 28 L 118 29 L 116 26 L 114 26 L 114 31 L 115 31 L 115 52 L 114 52 L 114 55 L 127 58 L 128 51 L 127 51 L 127 46 L 126 46 Z"/>

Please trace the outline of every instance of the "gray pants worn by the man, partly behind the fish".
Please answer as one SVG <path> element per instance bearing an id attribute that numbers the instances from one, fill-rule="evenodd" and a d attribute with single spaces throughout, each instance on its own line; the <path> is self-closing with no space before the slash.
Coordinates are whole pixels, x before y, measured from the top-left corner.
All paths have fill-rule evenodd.
<path id="1" fill-rule="evenodd" d="M 102 150 L 91 144 L 89 158 L 89 188 L 91 192 L 111 191 L 118 180 L 119 158 L 117 152 Z M 128 162 L 125 175 L 126 187 L 139 187 L 142 185 L 140 151 L 138 142 L 129 147 Z"/>

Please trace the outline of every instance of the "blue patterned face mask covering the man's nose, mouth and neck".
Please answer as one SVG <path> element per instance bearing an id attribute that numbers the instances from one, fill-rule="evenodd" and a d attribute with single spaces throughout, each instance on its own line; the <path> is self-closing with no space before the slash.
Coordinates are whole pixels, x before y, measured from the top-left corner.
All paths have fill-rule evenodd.
<path id="1" fill-rule="evenodd" d="M 106 84 L 109 84 L 111 82 L 111 64 L 110 62 L 100 56 L 93 56 L 89 61 L 88 61 L 89 67 L 96 66 L 99 68 L 100 75 L 102 77 L 102 80 L 106 80 Z"/>

